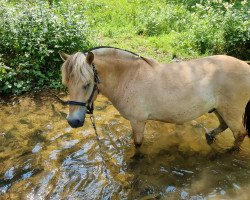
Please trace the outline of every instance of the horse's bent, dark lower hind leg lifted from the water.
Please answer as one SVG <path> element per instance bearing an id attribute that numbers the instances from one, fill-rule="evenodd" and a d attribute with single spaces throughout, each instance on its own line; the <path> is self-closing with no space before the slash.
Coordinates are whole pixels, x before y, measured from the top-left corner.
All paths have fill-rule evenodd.
<path id="1" fill-rule="evenodd" d="M 206 140 L 207 140 L 207 143 L 209 145 L 211 145 L 214 142 L 216 135 L 218 135 L 219 133 L 225 131 L 228 128 L 226 122 L 220 116 L 220 114 L 217 112 L 217 110 L 214 110 L 213 112 L 217 116 L 217 118 L 218 118 L 218 120 L 220 122 L 220 125 L 217 128 L 215 128 L 214 130 L 206 133 Z"/>

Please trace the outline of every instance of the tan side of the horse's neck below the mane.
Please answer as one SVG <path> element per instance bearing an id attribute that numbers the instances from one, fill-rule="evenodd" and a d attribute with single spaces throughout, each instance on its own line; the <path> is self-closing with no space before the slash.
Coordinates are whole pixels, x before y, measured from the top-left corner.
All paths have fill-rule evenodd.
<path id="1" fill-rule="evenodd" d="M 122 85 L 131 76 L 136 74 L 138 65 L 135 62 L 120 60 L 120 59 L 107 59 L 101 58 L 95 60 L 96 68 L 100 78 L 100 92 L 108 99 L 115 103 L 117 100 L 117 91 L 121 90 Z"/>

